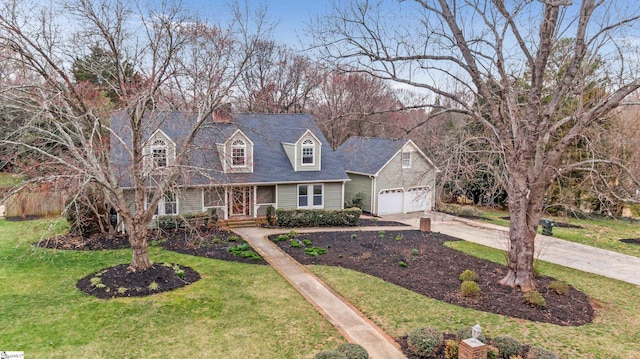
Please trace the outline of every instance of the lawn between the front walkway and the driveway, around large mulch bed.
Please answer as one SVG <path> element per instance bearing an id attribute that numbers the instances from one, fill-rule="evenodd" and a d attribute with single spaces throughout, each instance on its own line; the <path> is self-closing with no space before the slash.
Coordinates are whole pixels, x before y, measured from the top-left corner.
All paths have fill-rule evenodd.
<path id="1" fill-rule="evenodd" d="M 499 250 L 464 241 L 447 245 L 504 263 L 504 253 Z M 514 319 L 440 302 L 344 268 L 310 269 L 392 336 L 425 326 L 455 332 L 479 322 L 489 336 L 511 335 L 524 343 L 553 350 L 562 358 L 640 357 L 640 288 L 550 263 L 541 262 L 539 266 L 543 275 L 567 281 L 601 307 L 593 323 L 564 327 Z"/>

